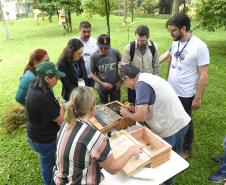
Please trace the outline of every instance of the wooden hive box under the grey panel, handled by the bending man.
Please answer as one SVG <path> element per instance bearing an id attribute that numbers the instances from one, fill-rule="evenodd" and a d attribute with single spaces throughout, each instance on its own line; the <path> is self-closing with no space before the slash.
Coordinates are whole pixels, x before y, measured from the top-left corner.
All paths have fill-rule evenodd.
<path id="1" fill-rule="evenodd" d="M 110 108 L 114 112 L 114 114 L 117 114 L 118 116 L 116 116 L 117 118 L 115 121 L 113 121 L 110 124 L 106 124 L 106 125 L 101 123 L 101 121 L 98 120 L 96 116 L 92 117 L 90 119 L 90 122 L 101 132 L 108 131 L 113 127 L 116 128 L 117 130 L 121 130 L 121 129 L 126 128 L 127 126 L 131 126 L 131 125 L 135 124 L 135 121 L 128 119 L 128 118 L 123 118 L 119 115 L 120 108 L 126 107 L 125 104 L 122 104 L 119 101 L 113 101 L 113 102 L 107 103 L 105 105 L 108 108 Z M 105 110 L 103 110 L 103 111 L 105 111 Z"/>

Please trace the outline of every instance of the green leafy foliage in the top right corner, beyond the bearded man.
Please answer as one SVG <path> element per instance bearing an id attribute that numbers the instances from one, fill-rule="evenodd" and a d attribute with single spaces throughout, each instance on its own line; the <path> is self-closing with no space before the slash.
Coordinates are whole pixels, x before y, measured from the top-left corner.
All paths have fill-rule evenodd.
<path id="1" fill-rule="evenodd" d="M 215 31 L 221 27 L 226 29 L 225 0 L 198 0 L 196 7 L 199 26 L 209 31 Z"/>

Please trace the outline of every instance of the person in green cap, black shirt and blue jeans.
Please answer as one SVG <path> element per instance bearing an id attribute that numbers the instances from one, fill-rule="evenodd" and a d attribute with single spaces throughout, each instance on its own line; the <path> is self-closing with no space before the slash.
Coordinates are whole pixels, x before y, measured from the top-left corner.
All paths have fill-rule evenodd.
<path id="1" fill-rule="evenodd" d="M 45 185 L 53 183 L 56 136 L 63 122 L 64 109 L 55 98 L 52 88 L 65 74 L 52 62 L 43 62 L 36 68 L 37 79 L 29 87 L 25 107 L 27 111 L 27 140 L 38 154 Z"/>

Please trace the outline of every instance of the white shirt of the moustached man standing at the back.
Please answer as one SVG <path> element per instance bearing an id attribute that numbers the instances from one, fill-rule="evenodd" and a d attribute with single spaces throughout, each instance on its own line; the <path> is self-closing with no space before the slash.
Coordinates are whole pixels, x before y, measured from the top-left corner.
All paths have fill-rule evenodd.
<path id="1" fill-rule="evenodd" d="M 77 37 L 77 38 L 80 39 L 80 37 Z M 88 75 L 88 78 L 91 78 L 90 56 L 98 50 L 97 40 L 90 37 L 89 40 L 86 42 L 83 40 L 81 41 L 84 45 L 83 58 L 85 61 L 87 75 Z"/>

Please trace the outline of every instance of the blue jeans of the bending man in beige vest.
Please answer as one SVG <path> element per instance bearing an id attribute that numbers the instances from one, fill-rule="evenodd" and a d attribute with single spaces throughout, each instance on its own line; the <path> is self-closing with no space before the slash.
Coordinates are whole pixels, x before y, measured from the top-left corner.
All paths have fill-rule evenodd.
<path id="1" fill-rule="evenodd" d="M 177 133 L 175 133 L 172 136 L 163 138 L 167 143 L 169 143 L 172 146 L 173 151 L 179 154 L 181 144 L 184 141 L 184 136 L 187 133 L 187 130 L 189 128 L 189 124 L 179 130 Z M 163 183 L 164 185 L 172 185 L 173 184 L 173 178 L 170 178 L 169 180 L 165 181 Z"/>

